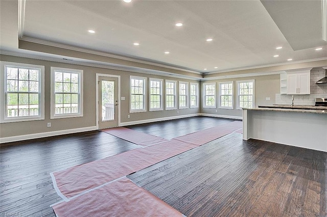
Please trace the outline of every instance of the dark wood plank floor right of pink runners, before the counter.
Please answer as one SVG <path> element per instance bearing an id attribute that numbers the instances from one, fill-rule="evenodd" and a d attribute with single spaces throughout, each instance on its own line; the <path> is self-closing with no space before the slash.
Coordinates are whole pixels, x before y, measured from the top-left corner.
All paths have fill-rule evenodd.
<path id="1" fill-rule="evenodd" d="M 326 163 L 232 133 L 128 178 L 186 216 L 327 216 Z"/>

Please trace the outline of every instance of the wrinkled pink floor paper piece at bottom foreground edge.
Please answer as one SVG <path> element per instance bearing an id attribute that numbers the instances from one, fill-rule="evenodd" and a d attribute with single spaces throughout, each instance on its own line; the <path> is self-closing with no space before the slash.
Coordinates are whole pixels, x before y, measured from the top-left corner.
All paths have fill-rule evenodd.
<path id="1" fill-rule="evenodd" d="M 57 216 L 182 216 L 128 178 L 122 178 L 52 207 Z"/>

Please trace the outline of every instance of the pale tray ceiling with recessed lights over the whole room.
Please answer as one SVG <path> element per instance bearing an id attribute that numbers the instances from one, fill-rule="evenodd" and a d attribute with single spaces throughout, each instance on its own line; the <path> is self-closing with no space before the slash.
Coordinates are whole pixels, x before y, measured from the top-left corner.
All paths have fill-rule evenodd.
<path id="1" fill-rule="evenodd" d="M 20 0 L 25 6 L 20 19 L 8 12 L 17 10 L 18 4 L 10 2 L 1 1 L 1 12 L 7 14 L 1 16 L 1 32 L 8 31 L 1 35 L 2 50 L 33 53 L 18 49 L 19 35 L 23 41 L 84 48 L 195 73 L 327 59 L 321 0 Z M 183 25 L 177 27 L 177 22 Z M 279 46 L 283 48 L 276 49 Z M 315 50 L 318 47 L 322 50 Z"/>

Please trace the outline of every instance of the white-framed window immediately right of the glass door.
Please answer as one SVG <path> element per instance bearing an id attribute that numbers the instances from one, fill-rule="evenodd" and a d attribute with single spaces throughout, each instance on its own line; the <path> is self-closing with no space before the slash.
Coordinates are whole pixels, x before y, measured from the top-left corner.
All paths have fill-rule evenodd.
<path id="1" fill-rule="evenodd" d="M 130 112 L 146 112 L 146 77 L 130 76 Z"/>

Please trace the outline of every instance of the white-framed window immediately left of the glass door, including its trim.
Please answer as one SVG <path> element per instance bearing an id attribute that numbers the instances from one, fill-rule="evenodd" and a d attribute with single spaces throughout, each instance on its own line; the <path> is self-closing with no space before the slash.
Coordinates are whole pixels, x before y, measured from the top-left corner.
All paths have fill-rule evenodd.
<path id="1" fill-rule="evenodd" d="M 83 70 L 51 67 L 51 119 L 83 116 Z"/>

